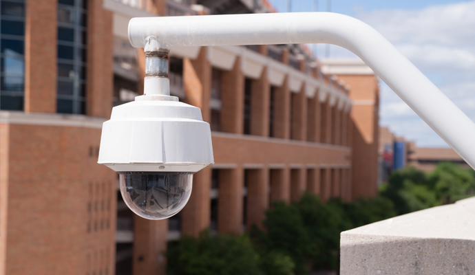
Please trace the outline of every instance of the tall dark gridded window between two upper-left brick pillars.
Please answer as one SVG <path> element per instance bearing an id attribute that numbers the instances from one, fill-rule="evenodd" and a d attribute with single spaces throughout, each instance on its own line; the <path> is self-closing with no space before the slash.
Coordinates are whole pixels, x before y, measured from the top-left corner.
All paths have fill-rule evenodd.
<path id="1" fill-rule="evenodd" d="M 57 112 L 86 112 L 87 0 L 58 0 Z"/>

